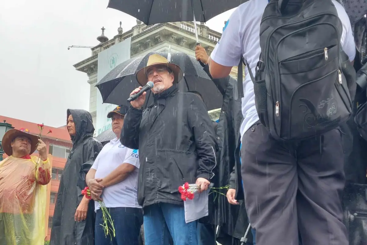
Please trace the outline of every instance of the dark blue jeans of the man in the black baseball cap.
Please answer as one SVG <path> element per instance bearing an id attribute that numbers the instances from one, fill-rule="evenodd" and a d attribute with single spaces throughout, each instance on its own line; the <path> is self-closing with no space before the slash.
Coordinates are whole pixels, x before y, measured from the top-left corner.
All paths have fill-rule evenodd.
<path id="1" fill-rule="evenodd" d="M 95 238 L 98 245 L 138 245 L 140 227 L 143 224 L 141 208 L 107 208 L 115 227 L 115 237 L 106 237 L 103 224 L 102 210 L 98 209 L 95 218 Z"/>

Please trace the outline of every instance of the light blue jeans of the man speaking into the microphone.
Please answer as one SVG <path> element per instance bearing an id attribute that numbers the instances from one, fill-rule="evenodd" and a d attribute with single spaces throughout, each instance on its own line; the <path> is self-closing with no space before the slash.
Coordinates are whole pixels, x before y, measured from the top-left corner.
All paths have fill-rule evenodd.
<path id="1" fill-rule="evenodd" d="M 197 245 L 197 221 L 185 222 L 183 205 L 157 203 L 144 208 L 145 245 Z M 128 244 L 128 243 L 126 243 Z"/>

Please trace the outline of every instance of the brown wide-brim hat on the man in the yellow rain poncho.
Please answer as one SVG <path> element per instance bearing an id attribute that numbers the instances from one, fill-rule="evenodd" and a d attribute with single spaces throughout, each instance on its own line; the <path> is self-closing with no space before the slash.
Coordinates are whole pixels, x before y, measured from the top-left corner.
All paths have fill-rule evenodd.
<path id="1" fill-rule="evenodd" d="M 11 148 L 11 141 L 16 137 L 24 136 L 30 139 L 30 153 L 32 154 L 37 149 L 38 139 L 37 135 L 30 134 L 28 129 L 10 129 L 4 134 L 1 145 L 6 155 L 11 156 L 13 154 L 13 149 Z"/>

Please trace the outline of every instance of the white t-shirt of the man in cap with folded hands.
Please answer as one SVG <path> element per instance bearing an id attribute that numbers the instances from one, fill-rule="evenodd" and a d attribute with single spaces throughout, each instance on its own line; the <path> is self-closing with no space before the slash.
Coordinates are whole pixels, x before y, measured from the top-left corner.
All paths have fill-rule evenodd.
<path id="1" fill-rule="evenodd" d="M 93 163 L 92 169 L 97 170 L 94 177 L 103 179 L 123 163 L 134 165 L 136 169 L 120 183 L 106 187 L 101 197 L 107 208 L 141 208 L 137 195 L 140 166 L 138 150 L 125 147 L 118 138 L 111 140 Z M 99 203 L 95 202 L 95 211 L 98 209 Z"/>

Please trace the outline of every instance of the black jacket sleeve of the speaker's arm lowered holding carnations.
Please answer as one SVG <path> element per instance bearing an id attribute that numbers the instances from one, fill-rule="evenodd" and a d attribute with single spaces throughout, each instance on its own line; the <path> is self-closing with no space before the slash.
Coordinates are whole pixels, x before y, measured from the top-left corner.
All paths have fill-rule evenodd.
<path id="1" fill-rule="evenodd" d="M 215 152 L 217 152 L 217 143 L 212 121 L 205 108 L 203 101 L 196 95 L 188 95 L 190 105 L 188 106 L 188 123 L 193 131 L 193 138 L 196 143 L 196 151 L 199 166 L 196 172 L 196 178 L 210 180 L 214 173 L 212 170 L 217 165 Z"/>

